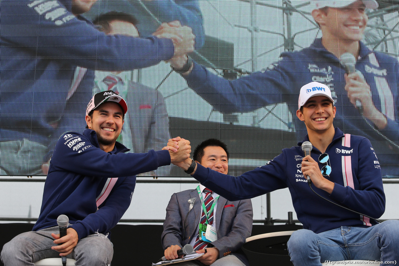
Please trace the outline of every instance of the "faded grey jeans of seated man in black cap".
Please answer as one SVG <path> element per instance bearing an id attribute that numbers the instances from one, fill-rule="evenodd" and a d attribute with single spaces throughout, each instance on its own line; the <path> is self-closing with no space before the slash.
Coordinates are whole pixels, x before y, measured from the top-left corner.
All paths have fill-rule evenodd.
<path id="1" fill-rule="evenodd" d="M 33 266 L 34 262 L 43 258 L 60 258 L 59 252 L 52 250 L 54 238 L 51 233 L 59 234 L 58 226 L 25 232 L 6 243 L 1 252 L 4 266 Z M 67 258 L 76 260 L 75 265 L 107 266 L 114 254 L 111 241 L 103 234 L 91 234 L 81 238 L 73 252 Z"/>

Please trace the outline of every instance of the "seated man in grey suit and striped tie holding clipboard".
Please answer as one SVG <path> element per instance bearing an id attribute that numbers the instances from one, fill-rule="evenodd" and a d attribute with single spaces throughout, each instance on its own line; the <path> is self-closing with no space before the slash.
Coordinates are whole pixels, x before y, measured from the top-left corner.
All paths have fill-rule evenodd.
<path id="1" fill-rule="evenodd" d="M 217 139 L 208 139 L 198 145 L 193 158 L 204 167 L 227 174 L 229 153 L 226 145 Z M 211 201 L 207 200 L 208 194 L 213 198 Z M 211 205 L 214 206 L 213 211 Z M 205 208 L 208 217 L 204 215 Z M 245 238 L 251 235 L 252 222 L 251 200 L 229 201 L 202 185 L 197 189 L 174 193 L 166 208 L 164 232 L 161 236 L 165 258 L 178 258 L 177 250 L 191 244 L 198 253 L 205 252 L 206 247 L 205 255 L 197 260 L 181 262 L 179 266 L 249 265 L 241 246 Z M 199 239 L 199 232 L 202 238 L 203 231 L 200 228 L 203 224 L 216 231 L 217 239 L 208 238 L 208 232 L 205 239 Z M 213 229 L 209 228 L 209 231 Z"/>

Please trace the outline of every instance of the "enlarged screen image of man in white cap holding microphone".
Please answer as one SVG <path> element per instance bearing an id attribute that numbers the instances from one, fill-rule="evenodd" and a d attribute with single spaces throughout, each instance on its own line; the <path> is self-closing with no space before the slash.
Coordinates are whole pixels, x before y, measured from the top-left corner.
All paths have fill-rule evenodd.
<path id="1" fill-rule="evenodd" d="M 284 52 L 273 69 L 227 80 L 190 60 L 184 66 L 185 60 L 176 60 L 172 66 L 180 67 L 187 84 L 222 113 L 287 103 L 294 115 L 299 88 L 312 81 L 324 83 L 340 110 L 336 126 L 367 137 L 383 165 L 383 175 L 399 175 L 399 62 L 361 42 L 368 20 L 366 10 L 377 8 L 377 2 L 311 2 L 322 38 L 303 50 Z M 298 121 L 292 129 L 298 141 L 306 133 Z"/>

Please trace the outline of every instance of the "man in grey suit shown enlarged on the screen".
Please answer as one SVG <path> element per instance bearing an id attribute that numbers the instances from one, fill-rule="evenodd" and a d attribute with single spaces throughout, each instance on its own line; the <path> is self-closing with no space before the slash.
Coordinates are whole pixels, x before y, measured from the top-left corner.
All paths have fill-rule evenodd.
<path id="1" fill-rule="evenodd" d="M 93 24 L 106 34 L 138 37 L 137 20 L 123 12 L 109 12 L 97 17 Z M 170 139 L 169 117 L 164 97 L 158 89 L 138 81 L 138 70 L 96 71 L 93 93 L 113 90 L 128 102 L 130 113 L 125 117 L 124 131 L 118 141 L 134 153 L 159 150 Z M 167 176 L 172 165 L 160 167 L 145 176 Z"/>

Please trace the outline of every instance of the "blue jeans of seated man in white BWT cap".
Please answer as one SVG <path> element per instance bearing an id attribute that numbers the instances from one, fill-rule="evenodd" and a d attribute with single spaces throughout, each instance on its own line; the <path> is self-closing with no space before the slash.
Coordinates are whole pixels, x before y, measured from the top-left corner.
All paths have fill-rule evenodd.
<path id="1" fill-rule="evenodd" d="M 295 266 L 320 266 L 325 261 L 340 260 L 399 263 L 399 220 L 369 228 L 342 226 L 319 234 L 301 229 L 290 236 L 287 246 Z"/>

